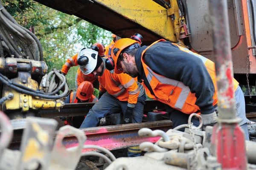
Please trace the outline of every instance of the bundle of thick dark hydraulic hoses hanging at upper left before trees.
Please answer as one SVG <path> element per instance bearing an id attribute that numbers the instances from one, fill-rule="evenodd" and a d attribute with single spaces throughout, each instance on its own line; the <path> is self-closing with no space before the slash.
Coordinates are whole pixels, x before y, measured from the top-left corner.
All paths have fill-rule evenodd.
<path id="1" fill-rule="evenodd" d="M 14 18 L 6 11 L 0 1 L 0 37 L 8 48 L 3 50 L 0 44 L 0 54 L 3 52 L 7 57 L 35 59 L 43 61 L 43 48 L 38 38 L 31 31 L 20 26 Z M 2 49 L 2 50 L 1 50 Z M 11 55 L 10 55 L 11 54 Z"/>

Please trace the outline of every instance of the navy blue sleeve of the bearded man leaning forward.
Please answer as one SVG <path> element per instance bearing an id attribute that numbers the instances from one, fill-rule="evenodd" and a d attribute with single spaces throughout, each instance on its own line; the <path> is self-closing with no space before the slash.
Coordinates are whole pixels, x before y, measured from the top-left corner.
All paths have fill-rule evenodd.
<path id="1" fill-rule="evenodd" d="M 202 114 L 214 112 L 212 79 L 201 59 L 181 51 L 169 41 L 158 42 L 145 52 L 146 64 L 157 74 L 183 82 L 195 93 Z"/>

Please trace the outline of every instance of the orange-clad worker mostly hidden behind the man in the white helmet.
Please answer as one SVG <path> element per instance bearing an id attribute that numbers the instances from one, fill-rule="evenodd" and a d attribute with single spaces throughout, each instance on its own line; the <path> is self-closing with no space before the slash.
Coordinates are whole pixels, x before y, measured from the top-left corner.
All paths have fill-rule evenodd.
<path id="1" fill-rule="evenodd" d="M 95 51 L 98 51 L 100 57 L 104 57 L 105 46 L 102 43 L 96 42 L 95 44 L 92 45 L 91 48 Z M 78 53 L 75 54 L 73 57 L 67 59 L 65 64 L 62 65 L 61 74 L 66 75 L 68 73 L 70 67 L 78 65 L 77 64 L 77 55 L 78 55 Z M 97 77 L 94 76 L 93 74 L 85 75 L 78 68 L 78 70 L 76 72 L 76 80 L 75 80 L 76 88 L 78 88 L 80 83 L 84 82 L 84 81 L 89 81 L 89 82 L 93 83 L 93 87 L 96 89 L 99 89 L 99 81 L 98 81 Z"/>

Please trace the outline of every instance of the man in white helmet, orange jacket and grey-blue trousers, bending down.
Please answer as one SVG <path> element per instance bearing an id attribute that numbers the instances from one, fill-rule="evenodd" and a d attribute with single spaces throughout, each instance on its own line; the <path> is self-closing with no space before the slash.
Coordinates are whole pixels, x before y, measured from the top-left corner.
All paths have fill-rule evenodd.
<path id="1" fill-rule="evenodd" d="M 111 61 L 99 57 L 97 51 L 84 49 L 79 53 L 78 64 L 84 74 L 99 76 L 99 102 L 87 113 L 80 128 L 95 127 L 107 114 L 123 113 L 123 123 L 142 122 L 145 93 L 143 86 L 128 74 L 109 71 Z M 112 62 L 113 63 L 113 62 Z M 129 147 L 128 156 L 140 156 L 139 147 Z"/>

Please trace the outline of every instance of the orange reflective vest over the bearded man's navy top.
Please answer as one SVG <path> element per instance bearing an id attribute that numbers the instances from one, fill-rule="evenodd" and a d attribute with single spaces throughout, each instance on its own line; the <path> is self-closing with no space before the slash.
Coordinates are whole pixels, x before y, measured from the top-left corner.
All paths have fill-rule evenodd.
<path id="1" fill-rule="evenodd" d="M 200 108 L 198 105 L 195 105 L 196 97 L 195 93 L 191 93 L 188 86 L 184 85 L 183 82 L 177 81 L 175 79 L 170 79 L 167 77 L 164 77 L 160 74 L 155 73 L 151 70 L 151 68 L 148 67 L 148 65 L 144 62 L 144 54 L 145 51 L 150 48 L 152 45 L 154 45 L 157 42 L 160 41 L 166 41 L 166 40 L 158 40 L 154 42 L 153 44 L 149 45 L 143 52 L 142 52 L 142 65 L 143 70 L 145 72 L 145 75 L 147 77 L 148 83 L 150 84 L 152 91 L 154 92 L 154 95 L 151 94 L 149 89 L 145 86 L 145 83 L 143 83 L 145 87 L 145 91 L 148 95 L 148 97 L 152 99 L 159 100 L 160 102 L 165 103 L 166 105 L 169 105 L 170 107 L 179 110 L 186 114 L 191 113 L 197 113 L 200 111 Z M 218 98 L 217 98 L 217 84 L 216 84 L 216 74 L 215 74 L 215 64 L 211 60 L 196 54 L 187 48 L 180 47 L 179 45 L 172 43 L 173 45 L 176 45 L 181 51 L 187 52 L 189 54 L 194 55 L 195 57 L 200 58 L 203 62 L 205 67 L 207 68 L 207 71 L 212 78 L 212 82 L 214 84 L 215 93 L 213 95 L 213 104 L 217 105 Z M 234 89 L 236 90 L 239 83 L 236 81 L 236 79 L 233 78 L 234 83 Z"/>

